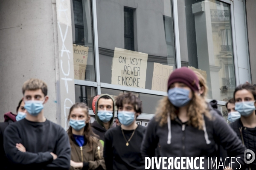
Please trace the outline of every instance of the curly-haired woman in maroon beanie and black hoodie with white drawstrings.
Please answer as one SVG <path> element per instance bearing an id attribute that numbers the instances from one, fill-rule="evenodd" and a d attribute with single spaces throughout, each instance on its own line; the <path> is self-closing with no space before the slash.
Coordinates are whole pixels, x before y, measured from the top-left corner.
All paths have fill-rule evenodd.
<path id="1" fill-rule="evenodd" d="M 141 147 L 143 157 L 154 157 L 154 149 L 159 143 L 161 157 L 204 157 L 202 165 L 208 169 L 208 158 L 215 161 L 215 144 L 220 142 L 230 157 L 235 157 L 232 168 L 243 167 L 244 146 L 225 120 L 207 109 L 207 103 L 198 91 L 199 80 L 192 70 L 182 67 L 173 71 L 168 80 L 168 96 L 160 101 L 156 116 L 148 124 Z M 181 166 L 184 162 L 179 163 Z M 195 166 L 199 167 L 199 164 L 199 159 L 195 159 Z M 165 167 L 168 165 L 167 161 Z M 186 161 L 183 166 L 190 167 Z M 215 168 L 219 167 L 215 165 Z M 223 165 L 221 168 L 229 167 Z"/>

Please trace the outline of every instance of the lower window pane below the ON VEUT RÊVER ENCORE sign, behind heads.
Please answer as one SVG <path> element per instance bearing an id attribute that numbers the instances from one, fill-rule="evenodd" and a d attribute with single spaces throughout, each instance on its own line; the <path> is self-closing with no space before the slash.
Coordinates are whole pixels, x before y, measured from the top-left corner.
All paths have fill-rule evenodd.
<path id="1" fill-rule="evenodd" d="M 113 98 L 119 96 L 120 94 L 127 93 L 127 91 L 113 90 L 108 88 L 101 88 L 102 94 L 113 95 Z M 163 96 L 156 96 L 151 94 L 142 94 L 133 92 L 142 101 L 143 113 L 155 114 L 158 101 L 163 98 Z"/>

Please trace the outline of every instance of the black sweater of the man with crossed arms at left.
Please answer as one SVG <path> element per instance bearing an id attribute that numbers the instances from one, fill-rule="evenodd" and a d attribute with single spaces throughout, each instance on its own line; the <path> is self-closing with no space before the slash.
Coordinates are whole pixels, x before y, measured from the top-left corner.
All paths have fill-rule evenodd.
<path id="1" fill-rule="evenodd" d="M 26 152 L 16 148 L 21 143 Z M 12 169 L 68 170 L 70 167 L 70 143 L 65 130 L 49 120 L 30 122 L 22 119 L 6 127 L 4 149 L 13 162 Z M 53 160 L 50 152 L 58 158 Z"/>

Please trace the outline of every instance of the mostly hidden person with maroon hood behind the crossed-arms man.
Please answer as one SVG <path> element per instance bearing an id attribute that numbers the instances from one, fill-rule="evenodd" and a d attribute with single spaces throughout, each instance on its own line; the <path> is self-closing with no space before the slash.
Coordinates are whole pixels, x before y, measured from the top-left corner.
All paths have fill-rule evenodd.
<path id="1" fill-rule="evenodd" d="M 6 153 L 3 148 L 3 134 L 6 127 L 16 121 L 19 121 L 21 119 L 24 119 L 26 116 L 26 109 L 24 108 L 24 102 L 22 99 L 20 100 L 17 108 L 16 108 L 16 114 L 13 114 L 12 112 L 8 112 L 4 114 L 4 122 L 0 123 L 0 164 L 3 170 L 8 170 L 8 165 L 10 164 L 9 160 L 6 157 Z"/>

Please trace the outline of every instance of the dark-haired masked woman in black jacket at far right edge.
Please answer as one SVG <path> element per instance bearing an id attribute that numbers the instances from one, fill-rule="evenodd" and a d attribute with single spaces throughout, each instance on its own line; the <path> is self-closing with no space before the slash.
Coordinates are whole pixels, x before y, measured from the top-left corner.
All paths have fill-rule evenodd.
<path id="1" fill-rule="evenodd" d="M 236 87 L 234 92 L 235 110 L 241 114 L 241 118 L 231 123 L 230 126 L 236 132 L 239 139 L 247 149 L 256 153 L 256 89 L 255 86 L 245 83 Z M 247 153 L 250 157 L 250 153 Z M 252 158 L 249 158 L 250 161 Z M 247 169 L 256 170 L 256 160 L 247 164 Z"/>

